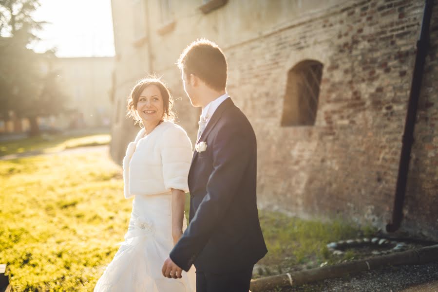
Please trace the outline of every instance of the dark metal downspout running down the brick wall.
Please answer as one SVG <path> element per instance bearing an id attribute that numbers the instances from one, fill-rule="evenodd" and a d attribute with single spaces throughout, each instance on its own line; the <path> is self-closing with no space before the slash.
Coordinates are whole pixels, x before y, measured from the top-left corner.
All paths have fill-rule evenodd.
<path id="1" fill-rule="evenodd" d="M 394 200 L 394 209 L 392 222 L 386 225 L 387 232 L 395 232 L 399 229 L 403 219 L 403 204 L 406 194 L 406 183 L 409 172 L 409 162 L 411 158 L 412 144 L 414 143 L 415 118 L 417 116 L 417 107 L 419 93 L 421 89 L 421 80 L 423 78 L 424 62 L 429 48 L 429 26 L 432 15 L 433 0 L 426 0 L 424 5 L 423 19 L 419 40 L 417 41 L 417 55 L 415 58 L 414 72 L 412 76 L 411 92 L 409 95 L 409 104 L 406 114 L 404 133 L 402 139 L 399 174 L 397 177 L 397 188 Z"/>

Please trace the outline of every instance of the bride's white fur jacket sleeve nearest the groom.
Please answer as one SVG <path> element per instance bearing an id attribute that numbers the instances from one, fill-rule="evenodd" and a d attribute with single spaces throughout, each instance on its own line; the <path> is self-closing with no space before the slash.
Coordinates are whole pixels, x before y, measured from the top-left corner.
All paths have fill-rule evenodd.
<path id="1" fill-rule="evenodd" d="M 193 156 L 191 141 L 181 127 L 172 127 L 164 132 L 161 159 L 164 186 L 170 190 L 189 191 L 187 178 Z"/>

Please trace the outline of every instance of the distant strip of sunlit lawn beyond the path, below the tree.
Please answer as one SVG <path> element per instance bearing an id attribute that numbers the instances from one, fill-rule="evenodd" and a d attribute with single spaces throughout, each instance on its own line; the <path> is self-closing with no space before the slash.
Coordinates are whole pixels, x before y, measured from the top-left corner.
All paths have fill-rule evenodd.
<path id="1" fill-rule="evenodd" d="M 38 150 L 42 153 L 49 153 L 80 146 L 106 145 L 109 144 L 110 141 L 111 136 L 107 133 L 74 136 L 45 135 L 41 137 L 0 142 L 0 156 Z"/>

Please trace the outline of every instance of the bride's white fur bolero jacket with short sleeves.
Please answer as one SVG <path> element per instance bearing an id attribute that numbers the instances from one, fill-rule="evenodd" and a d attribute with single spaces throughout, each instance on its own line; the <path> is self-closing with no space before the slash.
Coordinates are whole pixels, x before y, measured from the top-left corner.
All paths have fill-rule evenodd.
<path id="1" fill-rule="evenodd" d="M 162 122 L 144 137 L 142 128 L 123 158 L 125 198 L 169 193 L 171 188 L 189 191 L 187 177 L 192 145 L 186 131 Z"/>

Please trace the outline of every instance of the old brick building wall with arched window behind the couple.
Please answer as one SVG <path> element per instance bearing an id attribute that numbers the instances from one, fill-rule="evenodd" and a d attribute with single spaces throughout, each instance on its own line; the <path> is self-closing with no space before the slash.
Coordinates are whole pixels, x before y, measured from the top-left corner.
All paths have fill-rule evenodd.
<path id="1" fill-rule="evenodd" d="M 175 62 L 206 37 L 225 52 L 227 91 L 258 140 L 259 207 L 302 218 L 391 221 L 422 0 L 112 0 L 113 142 L 121 162 L 138 128 L 136 80 L 169 85 L 192 141 Z M 438 238 L 438 5 L 432 12 L 402 228 Z M 127 20 L 127 19 L 133 19 Z"/>

